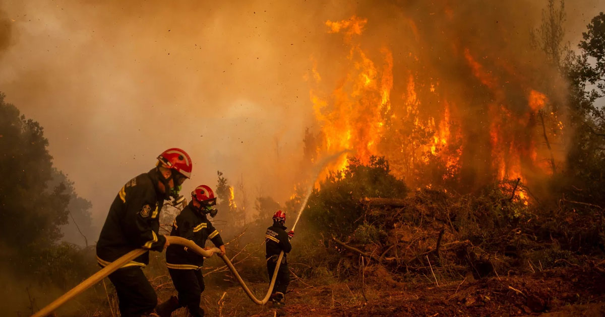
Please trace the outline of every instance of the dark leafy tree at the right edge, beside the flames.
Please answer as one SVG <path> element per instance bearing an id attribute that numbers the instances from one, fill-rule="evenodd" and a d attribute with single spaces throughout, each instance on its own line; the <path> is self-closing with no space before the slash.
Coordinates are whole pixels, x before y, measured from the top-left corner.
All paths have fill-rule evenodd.
<path id="1" fill-rule="evenodd" d="M 568 197 L 602 205 L 605 201 L 605 110 L 598 104 L 605 96 L 605 14 L 587 26 L 578 47 L 569 54 L 563 71 L 569 81 L 569 116 L 573 130 L 567 155 Z"/>

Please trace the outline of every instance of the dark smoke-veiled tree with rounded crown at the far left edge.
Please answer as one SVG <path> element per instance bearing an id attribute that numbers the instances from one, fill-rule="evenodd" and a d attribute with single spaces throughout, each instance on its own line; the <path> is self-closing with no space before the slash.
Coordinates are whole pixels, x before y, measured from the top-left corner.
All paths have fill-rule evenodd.
<path id="1" fill-rule="evenodd" d="M 70 193 L 63 182 L 48 187 L 53 165 L 44 129 L 4 97 L 0 93 L 0 240 L 16 250 L 44 248 L 62 236 Z"/>

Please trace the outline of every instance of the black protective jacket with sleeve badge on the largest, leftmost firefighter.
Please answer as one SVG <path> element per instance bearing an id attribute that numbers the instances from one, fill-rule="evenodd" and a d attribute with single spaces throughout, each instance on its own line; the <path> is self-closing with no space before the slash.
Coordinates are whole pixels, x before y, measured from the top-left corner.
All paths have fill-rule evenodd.
<path id="1" fill-rule="evenodd" d="M 166 238 L 158 234 L 160 210 L 166 197 L 157 184 L 159 172 L 153 168 L 126 182 L 111 203 L 97 242 L 97 262 L 106 266 L 134 249 L 162 251 Z M 145 266 L 149 252 L 125 266 Z"/>

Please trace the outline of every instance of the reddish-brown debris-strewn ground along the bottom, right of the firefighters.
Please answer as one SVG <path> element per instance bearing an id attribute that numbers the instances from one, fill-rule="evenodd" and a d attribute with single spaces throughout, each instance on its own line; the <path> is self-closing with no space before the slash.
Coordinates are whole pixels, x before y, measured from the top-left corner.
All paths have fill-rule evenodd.
<path id="1" fill-rule="evenodd" d="M 238 286 L 207 286 L 207 316 L 605 316 L 605 275 L 589 267 L 508 277 L 399 283 L 376 275 L 348 283 L 293 281 L 284 306 L 256 306 Z M 266 284 L 254 284 L 257 297 Z M 162 295 L 160 295 L 162 296 Z M 163 295 L 166 296 L 166 295 Z M 222 298 L 222 299 L 221 299 Z M 177 311 L 172 316 L 185 316 Z"/>

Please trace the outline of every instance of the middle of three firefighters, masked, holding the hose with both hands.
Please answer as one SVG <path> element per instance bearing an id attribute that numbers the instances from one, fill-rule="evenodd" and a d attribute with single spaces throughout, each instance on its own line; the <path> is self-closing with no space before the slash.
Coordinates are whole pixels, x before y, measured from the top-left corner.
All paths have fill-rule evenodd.
<path id="1" fill-rule="evenodd" d="M 206 240 L 211 240 L 221 250 L 220 255 L 224 255 L 223 239 L 207 217 L 217 215 L 217 210 L 213 208 L 216 203 L 217 197 L 210 187 L 206 185 L 196 187 L 191 192 L 189 205 L 172 222 L 170 235 L 192 240 L 201 248 L 206 245 Z M 179 307 L 186 307 L 189 316 L 204 316 L 204 310 L 200 307 L 200 296 L 204 291 L 204 279 L 201 275 L 203 264 L 204 257 L 189 251 L 184 246 L 171 245 L 166 249 L 166 266 L 174 288 L 178 292 L 178 298 L 172 296 L 168 301 L 160 304 L 155 309 L 158 315 L 169 317 Z"/>

